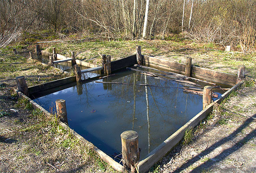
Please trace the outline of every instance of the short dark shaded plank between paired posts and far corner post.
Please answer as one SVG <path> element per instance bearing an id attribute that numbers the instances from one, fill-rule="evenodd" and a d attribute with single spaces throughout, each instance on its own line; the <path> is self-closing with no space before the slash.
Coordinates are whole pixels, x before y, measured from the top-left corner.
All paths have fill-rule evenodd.
<path id="1" fill-rule="evenodd" d="M 119 69 L 132 66 L 137 63 L 136 55 L 128 56 L 126 58 L 122 58 L 120 60 L 111 62 L 111 73 L 113 71 L 117 71 Z"/>

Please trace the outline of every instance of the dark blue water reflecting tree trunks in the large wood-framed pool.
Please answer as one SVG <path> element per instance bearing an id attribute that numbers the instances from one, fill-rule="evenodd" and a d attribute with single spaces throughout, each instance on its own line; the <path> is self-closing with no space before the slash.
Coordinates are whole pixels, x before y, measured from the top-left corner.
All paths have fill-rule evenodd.
<path id="1" fill-rule="evenodd" d="M 98 81 L 130 85 L 89 82 L 34 101 L 49 110 L 56 99 L 66 100 L 70 128 L 112 157 L 121 153 L 123 131 L 139 134 L 142 160 L 202 110 L 202 96 L 184 93 L 173 80 L 122 71 Z"/>

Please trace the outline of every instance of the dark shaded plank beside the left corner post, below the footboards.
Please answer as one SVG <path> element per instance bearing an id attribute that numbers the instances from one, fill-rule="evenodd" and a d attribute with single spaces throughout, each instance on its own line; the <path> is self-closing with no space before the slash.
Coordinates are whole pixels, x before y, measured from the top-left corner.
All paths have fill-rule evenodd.
<path id="1" fill-rule="evenodd" d="M 46 82 L 44 84 L 28 87 L 28 93 L 33 94 L 40 91 L 45 91 L 53 87 L 62 86 L 71 82 L 76 82 L 76 76 L 71 76 L 63 79 L 54 80 L 52 82 Z"/>

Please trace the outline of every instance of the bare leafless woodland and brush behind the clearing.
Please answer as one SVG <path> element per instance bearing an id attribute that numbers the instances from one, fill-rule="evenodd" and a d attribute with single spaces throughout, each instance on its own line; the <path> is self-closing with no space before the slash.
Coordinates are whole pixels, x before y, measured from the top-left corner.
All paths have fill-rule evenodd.
<path id="1" fill-rule="evenodd" d="M 0 9 L 0 47 L 45 30 L 106 40 L 168 40 L 183 31 L 243 53 L 256 45 L 256 0 L 0 0 Z"/>

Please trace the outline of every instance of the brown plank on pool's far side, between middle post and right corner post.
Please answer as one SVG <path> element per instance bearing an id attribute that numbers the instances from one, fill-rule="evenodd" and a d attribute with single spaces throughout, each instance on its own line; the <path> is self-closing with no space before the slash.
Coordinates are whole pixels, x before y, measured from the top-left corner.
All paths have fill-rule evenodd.
<path id="1" fill-rule="evenodd" d="M 237 80 L 237 75 L 231 75 L 228 73 L 223 73 L 223 72 L 214 71 L 211 69 L 205 69 L 201 67 L 195 67 L 195 66 L 192 66 L 192 75 L 195 75 L 197 77 L 199 77 L 199 75 L 205 76 L 208 78 L 213 78 L 213 79 L 224 81 L 224 82 L 230 82 L 233 84 L 236 84 L 236 80 Z"/>

